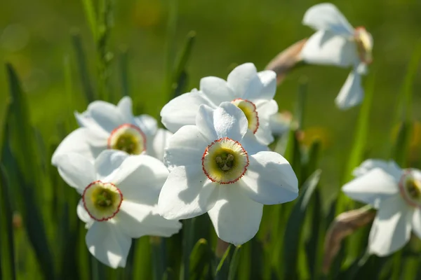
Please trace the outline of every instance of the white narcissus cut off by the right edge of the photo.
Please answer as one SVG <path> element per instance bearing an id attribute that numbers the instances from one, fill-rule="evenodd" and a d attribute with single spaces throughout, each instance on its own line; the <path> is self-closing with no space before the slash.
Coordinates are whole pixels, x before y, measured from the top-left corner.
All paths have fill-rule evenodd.
<path id="1" fill-rule="evenodd" d="M 370 253 L 384 256 L 402 248 L 411 230 L 421 238 L 421 172 L 395 162 L 366 160 L 342 191 L 377 209 L 368 241 Z"/>

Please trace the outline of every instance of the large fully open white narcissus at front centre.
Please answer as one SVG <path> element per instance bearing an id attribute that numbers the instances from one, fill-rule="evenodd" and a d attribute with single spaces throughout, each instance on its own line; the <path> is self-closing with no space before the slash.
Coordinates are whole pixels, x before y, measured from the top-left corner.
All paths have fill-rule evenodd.
<path id="1" fill-rule="evenodd" d="M 234 104 L 199 106 L 195 125 L 181 127 L 166 148 L 170 175 L 159 195 L 159 213 L 173 220 L 208 212 L 220 239 L 250 240 L 258 232 L 263 204 L 298 196 L 288 161 L 264 148 Z"/>

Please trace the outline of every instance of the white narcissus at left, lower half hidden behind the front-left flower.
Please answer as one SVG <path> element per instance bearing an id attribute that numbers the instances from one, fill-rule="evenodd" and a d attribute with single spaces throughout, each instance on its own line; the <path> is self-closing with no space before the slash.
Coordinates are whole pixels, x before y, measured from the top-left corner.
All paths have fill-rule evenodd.
<path id="1" fill-rule="evenodd" d="M 88 110 L 75 113 L 79 127 L 60 143 L 51 162 L 66 153 L 79 153 L 94 160 L 102 151 L 114 149 L 131 155 L 147 153 L 162 160 L 163 148 L 171 132 L 158 129 L 148 115 L 133 116 L 132 100 L 123 97 L 116 106 L 95 101 Z"/>

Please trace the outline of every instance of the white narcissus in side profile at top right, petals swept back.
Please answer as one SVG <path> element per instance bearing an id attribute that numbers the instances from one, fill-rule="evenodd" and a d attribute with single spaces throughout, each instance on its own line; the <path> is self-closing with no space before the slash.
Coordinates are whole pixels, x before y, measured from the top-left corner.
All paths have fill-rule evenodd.
<path id="1" fill-rule="evenodd" d="M 302 23 L 317 30 L 302 48 L 302 59 L 311 64 L 352 66 L 335 102 L 340 109 L 360 104 L 364 95 L 361 75 L 366 73 L 367 65 L 372 62 L 371 34 L 364 27 L 354 29 L 331 3 L 309 8 Z"/>

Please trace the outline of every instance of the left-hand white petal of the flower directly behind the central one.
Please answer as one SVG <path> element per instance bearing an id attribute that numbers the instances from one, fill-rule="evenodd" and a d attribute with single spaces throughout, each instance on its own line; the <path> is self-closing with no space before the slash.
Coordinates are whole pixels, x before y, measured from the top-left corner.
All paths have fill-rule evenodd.
<path id="1" fill-rule="evenodd" d="M 161 122 L 166 129 L 176 132 L 183 125 L 196 124 L 196 114 L 201 104 L 215 107 L 203 92 L 188 92 L 175 97 L 161 110 Z"/>

